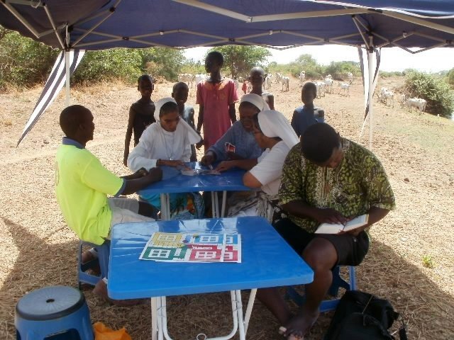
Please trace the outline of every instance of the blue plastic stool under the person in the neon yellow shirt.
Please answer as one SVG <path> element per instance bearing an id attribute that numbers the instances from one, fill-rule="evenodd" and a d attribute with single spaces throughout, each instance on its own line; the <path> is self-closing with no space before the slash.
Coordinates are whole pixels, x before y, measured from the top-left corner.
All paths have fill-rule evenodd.
<path id="1" fill-rule="evenodd" d="M 82 247 L 88 246 L 89 248 L 94 248 L 98 252 L 98 259 L 89 261 L 82 264 Z M 110 241 L 104 241 L 100 246 L 97 244 L 92 244 L 90 242 L 79 241 L 78 249 L 78 264 L 77 264 L 77 281 L 79 283 L 79 289 L 81 288 L 82 283 L 88 283 L 89 285 L 96 285 L 102 278 L 107 278 L 109 274 L 109 254 L 110 254 Z M 94 275 L 93 273 L 87 273 L 89 269 L 100 268 L 101 274 L 99 276 Z"/>

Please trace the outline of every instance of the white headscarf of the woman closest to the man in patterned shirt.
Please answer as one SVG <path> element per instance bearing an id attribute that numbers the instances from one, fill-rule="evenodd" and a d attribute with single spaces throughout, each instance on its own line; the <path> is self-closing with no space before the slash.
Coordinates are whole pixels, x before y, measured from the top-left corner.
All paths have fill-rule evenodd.
<path id="1" fill-rule="evenodd" d="M 294 132 L 287 118 L 278 111 L 266 110 L 258 114 L 258 125 L 263 135 L 267 137 L 279 137 L 292 149 L 299 142 L 297 134 Z"/>

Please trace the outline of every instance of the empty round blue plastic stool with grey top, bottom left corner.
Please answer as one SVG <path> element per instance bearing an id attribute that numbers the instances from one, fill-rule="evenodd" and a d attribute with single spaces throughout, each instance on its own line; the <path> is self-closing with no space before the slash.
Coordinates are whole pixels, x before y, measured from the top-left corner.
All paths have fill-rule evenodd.
<path id="1" fill-rule="evenodd" d="M 23 296 L 16 305 L 14 324 L 18 340 L 94 339 L 84 295 L 63 285 Z"/>

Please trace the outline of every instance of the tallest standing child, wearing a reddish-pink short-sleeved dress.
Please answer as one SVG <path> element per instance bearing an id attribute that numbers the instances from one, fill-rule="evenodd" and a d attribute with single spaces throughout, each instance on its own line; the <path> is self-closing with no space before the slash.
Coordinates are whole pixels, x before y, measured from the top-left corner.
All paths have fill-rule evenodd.
<path id="1" fill-rule="evenodd" d="M 197 132 L 203 125 L 205 152 L 236 122 L 238 94 L 233 80 L 221 76 L 223 62 L 220 52 L 209 52 L 205 58 L 205 69 L 210 77 L 197 84 L 196 103 L 200 105 Z M 201 143 L 196 147 L 201 147 Z"/>

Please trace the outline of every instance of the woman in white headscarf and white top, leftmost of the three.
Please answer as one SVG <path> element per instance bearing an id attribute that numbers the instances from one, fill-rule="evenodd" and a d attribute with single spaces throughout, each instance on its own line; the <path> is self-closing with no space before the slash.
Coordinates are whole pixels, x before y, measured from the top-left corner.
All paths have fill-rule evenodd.
<path id="1" fill-rule="evenodd" d="M 200 135 L 180 119 L 174 98 L 162 98 L 155 103 L 155 120 L 145 129 L 139 143 L 128 156 L 128 168 L 151 169 L 155 166 L 183 166 L 191 157 L 191 145 L 201 140 Z M 169 168 L 167 168 L 167 172 Z M 163 169 L 163 177 L 166 170 Z M 140 196 L 160 209 L 160 196 Z M 203 201 L 192 193 L 170 194 L 172 219 L 202 217 Z"/>

